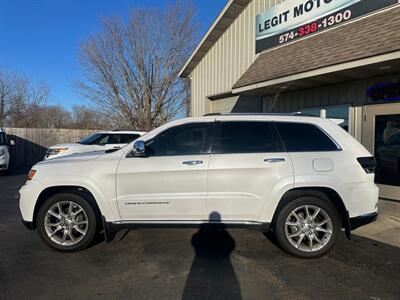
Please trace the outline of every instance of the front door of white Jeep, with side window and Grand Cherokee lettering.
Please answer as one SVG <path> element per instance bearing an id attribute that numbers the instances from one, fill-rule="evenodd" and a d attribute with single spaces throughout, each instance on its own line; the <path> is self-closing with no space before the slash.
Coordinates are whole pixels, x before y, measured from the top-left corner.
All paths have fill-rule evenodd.
<path id="1" fill-rule="evenodd" d="M 177 125 L 145 141 L 146 155 L 118 166 L 117 201 L 124 220 L 200 221 L 206 213 L 210 123 Z"/>

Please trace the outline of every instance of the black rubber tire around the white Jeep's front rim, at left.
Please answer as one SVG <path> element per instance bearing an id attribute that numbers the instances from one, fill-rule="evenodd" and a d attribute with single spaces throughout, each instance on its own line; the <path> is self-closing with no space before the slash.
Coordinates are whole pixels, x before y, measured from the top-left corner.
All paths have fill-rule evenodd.
<path id="1" fill-rule="evenodd" d="M 87 228 L 85 227 L 86 234 L 76 244 L 61 245 L 61 244 L 53 241 L 49 237 L 48 233 L 46 232 L 45 220 L 46 220 L 47 212 L 50 208 L 54 207 L 54 205 L 56 205 L 57 203 L 60 203 L 60 202 L 73 202 L 73 203 L 77 204 L 78 206 L 80 206 L 83 209 L 84 213 L 86 214 L 85 217 L 87 217 L 87 226 L 88 226 Z M 83 213 L 81 213 L 81 214 L 83 214 Z M 47 246 L 49 246 L 52 249 L 62 251 L 62 252 L 73 252 L 73 251 L 83 250 L 92 243 L 92 241 L 96 235 L 96 232 L 97 232 L 98 221 L 96 218 L 96 213 L 95 213 L 94 208 L 83 197 L 81 197 L 77 194 L 74 194 L 74 193 L 60 193 L 60 194 L 55 194 L 55 195 L 51 196 L 49 199 L 47 199 L 42 204 L 42 206 L 40 207 L 38 214 L 36 216 L 36 226 L 37 226 L 40 238 L 43 240 L 43 242 Z M 85 225 L 80 225 L 80 226 L 85 226 Z M 76 232 L 74 231 L 74 233 L 79 234 L 77 231 Z M 68 236 L 68 238 L 71 239 L 70 236 Z M 72 240 L 70 242 L 72 242 Z"/>

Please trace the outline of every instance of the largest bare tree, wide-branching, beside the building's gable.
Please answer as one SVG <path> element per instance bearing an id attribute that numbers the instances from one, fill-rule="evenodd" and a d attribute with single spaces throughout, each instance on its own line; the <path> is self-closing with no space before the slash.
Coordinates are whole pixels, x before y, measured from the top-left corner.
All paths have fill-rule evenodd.
<path id="1" fill-rule="evenodd" d="M 81 48 L 79 91 L 114 126 L 149 130 L 185 112 L 188 85 L 178 73 L 196 39 L 194 9 L 180 2 L 105 19 Z"/>

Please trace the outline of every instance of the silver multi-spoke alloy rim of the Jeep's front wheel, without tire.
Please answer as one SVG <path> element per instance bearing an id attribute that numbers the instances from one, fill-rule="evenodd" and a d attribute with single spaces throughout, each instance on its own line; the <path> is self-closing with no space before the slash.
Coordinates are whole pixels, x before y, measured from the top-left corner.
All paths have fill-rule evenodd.
<path id="1" fill-rule="evenodd" d="M 87 234 L 89 219 L 85 210 L 72 201 L 55 203 L 46 212 L 44 227 L 47 236 L 58 245 L 73 246 Z"/>

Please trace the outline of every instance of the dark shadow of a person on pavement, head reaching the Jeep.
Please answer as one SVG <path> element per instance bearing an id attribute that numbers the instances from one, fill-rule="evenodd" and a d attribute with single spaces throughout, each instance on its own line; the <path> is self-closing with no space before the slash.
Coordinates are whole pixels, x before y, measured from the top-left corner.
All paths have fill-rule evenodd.
<path id="1" fill-rule="evenodd" d="M 212 212 L 209 220 L 218 223 L 221 216 Z M 225 227 L 222 224 L 203 224 L 192 236 L 191 243 L 195 258 L 182 299 L 242 299 L 239 281 L 230 260 L 236 244 Z"/>

